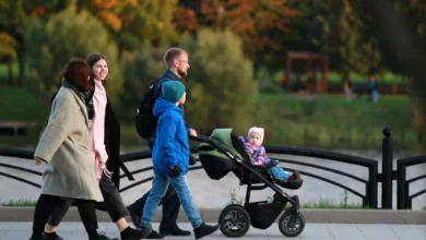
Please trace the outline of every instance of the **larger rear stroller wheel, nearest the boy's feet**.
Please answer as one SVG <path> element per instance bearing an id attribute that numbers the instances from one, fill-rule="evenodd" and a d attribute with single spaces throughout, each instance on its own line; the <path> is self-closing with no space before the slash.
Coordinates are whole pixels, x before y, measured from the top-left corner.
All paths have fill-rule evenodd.
<path id="1" fill-rule="evenodd" d="M 241 205 L 233 204 L 222 211 L 218 224 L 224 236 L 239 238 L 250 228 L 250 215 Z"/>

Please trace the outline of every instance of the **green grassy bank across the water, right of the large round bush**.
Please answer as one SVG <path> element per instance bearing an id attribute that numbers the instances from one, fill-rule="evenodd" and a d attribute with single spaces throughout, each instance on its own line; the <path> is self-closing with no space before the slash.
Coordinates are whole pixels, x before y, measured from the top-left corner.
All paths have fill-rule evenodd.
<path id="1" fill-rule="evenodd" d="M 366 98 L 346 103 L 343 95 L 262 94 L 253 109 L 252 124 L 265 128 L 270 144 L 380 147 L 387 125 L 393 129 L 395 146 L 415 147 L 417 143 L 406 96 L 380 96 L 378 104 L 371 104 Z"/>

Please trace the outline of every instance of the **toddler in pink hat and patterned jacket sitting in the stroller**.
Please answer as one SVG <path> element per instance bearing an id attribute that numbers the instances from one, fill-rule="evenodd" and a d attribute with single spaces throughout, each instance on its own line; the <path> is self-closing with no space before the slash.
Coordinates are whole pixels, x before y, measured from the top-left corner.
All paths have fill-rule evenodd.
<path id="1" fill-rule="evenodd" d="M 239 136 L 238 139 L 241 140 L 246 147 L 246 151 L 249 153 L 252 165 L 265 166 L 267 168 L 269 168 L 273 177 L 284 182 L 300 179 L 300 173 L 298 171 L 295 171 L 291 175 L 283 168 L 277 166 L 277 160 L 272 160 L 267 157 L 267 153 L 264 151 L 264 147 L 262 146 L 264 136 L 264 130 L 262 128 L 251 128 L 247 136 L 248 139 L 244 136 Z"/>

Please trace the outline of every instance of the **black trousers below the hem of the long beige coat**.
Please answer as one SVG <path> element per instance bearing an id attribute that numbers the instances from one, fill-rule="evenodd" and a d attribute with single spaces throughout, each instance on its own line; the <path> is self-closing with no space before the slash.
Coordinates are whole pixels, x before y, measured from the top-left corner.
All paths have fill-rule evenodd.
<path id="1" fill-rule="evenodd" d="M 45 226 L 49 216 L 54 213 L 54 209 L 59 206 L 62 201 L 60 196 L 42 194 L 37 201 L 37 205 L 34 211 L 33 219 L 33 237 L 32 239 L 42 239 L 42 233 L 45 230 Z M 95 211 L 95 202 L 87 200 L 70 200 L 75 202 L 79 208 L 80 217 L 83 221 L 84 228 L 87 231 L 90 239 L 97 239 L 97 218 Z M 68 207 L 67 207 L 68 209 Z M 67 213 L 67 212 L 66 212 Z"/>

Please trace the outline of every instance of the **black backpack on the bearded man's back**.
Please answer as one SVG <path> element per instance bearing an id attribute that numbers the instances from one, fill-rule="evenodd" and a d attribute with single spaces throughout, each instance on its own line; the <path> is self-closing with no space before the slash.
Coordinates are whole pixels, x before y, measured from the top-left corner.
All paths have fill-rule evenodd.
<path id="1" fill-rule="evenodd" d="M 159 82 L 159 81 L 158 81 Z M 150 89 L 139 104 L 137 113 L 134 116 L 134 124 L 137 127 L 138 134 L 145 140 L 149 140 L 153 135 L 157 119 L 154 117 L 153 109 L 155 105 L 155 88 L 157 82 L 152 82 Z"/>

